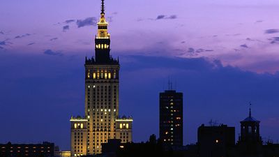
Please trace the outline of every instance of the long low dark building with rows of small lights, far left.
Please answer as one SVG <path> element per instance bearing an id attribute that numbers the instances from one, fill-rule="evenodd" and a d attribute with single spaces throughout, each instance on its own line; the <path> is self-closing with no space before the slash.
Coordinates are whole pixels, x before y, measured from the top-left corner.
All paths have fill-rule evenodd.
<path id="1" fill-rule="evenodd" d="M 54 143 L 0 144 L 1 157 L 50 157 L 54 156 Z"/>

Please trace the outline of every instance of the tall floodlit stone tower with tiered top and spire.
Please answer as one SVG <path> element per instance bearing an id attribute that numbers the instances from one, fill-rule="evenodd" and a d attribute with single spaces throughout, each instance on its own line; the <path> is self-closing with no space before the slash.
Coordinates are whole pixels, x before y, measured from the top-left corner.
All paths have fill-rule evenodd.
<path id="1" fill-rule="evenodd" d="M 71 117 L 71 156 L 100 154 L 102 143 L 132 142 L 131 117 L 119 117 L 119 60 L 110 56 L 110 33 L 102 0 L 95 57 L 85 59 L 85 117 Z"/>

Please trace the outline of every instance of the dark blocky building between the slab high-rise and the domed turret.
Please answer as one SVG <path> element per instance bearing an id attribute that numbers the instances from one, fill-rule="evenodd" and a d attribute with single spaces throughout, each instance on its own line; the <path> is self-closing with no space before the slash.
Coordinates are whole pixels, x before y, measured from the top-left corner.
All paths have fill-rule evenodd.
<path id="1" fill-rule="evenodd" d="M 227 125 L 199 126 L 197 146 L 200 157 L 225 157 L 235 145 L 235 128 Z"/>

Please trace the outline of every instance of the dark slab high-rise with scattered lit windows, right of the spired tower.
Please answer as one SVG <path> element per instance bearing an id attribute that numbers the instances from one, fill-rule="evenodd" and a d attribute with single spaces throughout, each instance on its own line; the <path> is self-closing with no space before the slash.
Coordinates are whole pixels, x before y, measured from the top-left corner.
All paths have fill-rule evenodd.
<path id="1" fill-rule="evenodd" d="M 160 140 L 165 147 L 183 146 L 183 94 L 160 93 Z"/>

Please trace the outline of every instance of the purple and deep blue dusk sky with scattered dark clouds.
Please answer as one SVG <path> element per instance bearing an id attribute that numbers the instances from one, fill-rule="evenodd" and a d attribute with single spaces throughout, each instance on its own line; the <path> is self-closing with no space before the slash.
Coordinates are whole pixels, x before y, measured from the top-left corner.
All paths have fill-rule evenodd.
<path id="1" fill-rule="evenodd" d="M 133 140 L 158 135 L 159 92 L 184 94 L 184 144 L 213 119 L 261 121 L 279 140 L 278 0 L 105 1 L 111 54 L 119 57 L 120 112 Z M 70 116 L 84 115 L 84 58 L 94 54 L 99 0 L 0 2 L 0 143 L 70 149 Z"/>

